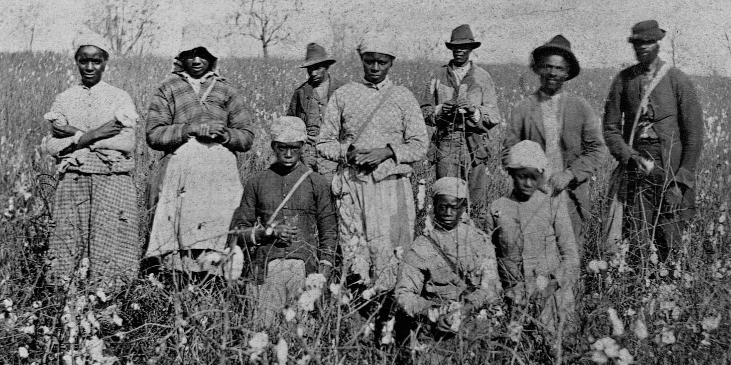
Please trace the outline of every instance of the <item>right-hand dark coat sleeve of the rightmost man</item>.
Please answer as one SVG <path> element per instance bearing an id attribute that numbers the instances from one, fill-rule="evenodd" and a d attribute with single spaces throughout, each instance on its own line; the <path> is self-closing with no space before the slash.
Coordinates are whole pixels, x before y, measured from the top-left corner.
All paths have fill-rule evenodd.
<path id="1" fill-rule="evenodd" d="M 677 82 L 675 98 L 678 103 L 678 127 L 683 145 L 681 164 L 675 173 L 675 182 L 694 188 L 695 166 L 700 158 L 705 136 L 703 111 L 689 77 L 678 72 L 675 82 Z"/>

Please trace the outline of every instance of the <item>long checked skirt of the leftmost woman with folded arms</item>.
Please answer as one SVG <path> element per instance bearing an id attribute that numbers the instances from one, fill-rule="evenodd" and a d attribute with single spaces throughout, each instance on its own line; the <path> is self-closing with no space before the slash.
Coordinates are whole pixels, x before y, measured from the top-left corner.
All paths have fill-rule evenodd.
<path id="1" fill-rule="evenodd" d="M 83 274 L 102 281 L 128 280 L 140 264 L 140 218 L 132 174 L 66 172 L 56 187 L 48 242 L 51 275 Z"/>

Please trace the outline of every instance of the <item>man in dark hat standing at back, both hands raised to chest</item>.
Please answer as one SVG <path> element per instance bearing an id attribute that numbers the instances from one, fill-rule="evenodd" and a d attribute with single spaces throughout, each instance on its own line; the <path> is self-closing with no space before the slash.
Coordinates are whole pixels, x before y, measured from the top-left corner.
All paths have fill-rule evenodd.
<path id="1" fill-rule="evenodd" d="M 452 50 L 452 61 L 433 72 L 421 107 L 426 123 L 436 127 L 436 178 L 469 181 L 470 204 L 485 204 L 488 131 L 501 121 L 495 83 L 469 60 L 481 45 L 469 25 L 455 28 L 445 45 Z"/>

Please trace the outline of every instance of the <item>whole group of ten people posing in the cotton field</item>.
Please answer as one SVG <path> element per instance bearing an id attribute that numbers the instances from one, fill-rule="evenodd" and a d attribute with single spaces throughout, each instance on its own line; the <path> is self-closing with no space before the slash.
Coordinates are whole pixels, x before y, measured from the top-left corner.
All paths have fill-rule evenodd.
<path id="1" fill-rule="evenodd" d="M 694 213 L 702 112 L 689 77 L 658 57 L 664 34 L 654 20 L 632 27 L 638 64 L 614 80 L 603 123 L 585 99 L 563 91 L 580 65 L 561 35 L 533 50 L 540 87 L 507 122 L 491 75 L 470 61 L 480 42 L 468 25 L 452 31 L 445 45 L 453 58 L 433 71 L 421 102 L 389 79 L 398 49 L 388 40 L 361 43 L 363 79 L 353 82 L 331 76 L 336 60 L 310 44 L 301 65 L 308 80 L 271 124 L 276 161 L 243 185 L 235 153 L 254 140 L 245 96 L 207 48 L 184 45 L 145 118 L 148 145 L 164 156 L 149 178 L 144 257 L 192 280 L 249 278 L 267 325 L 319 272 L 384 298 L 381 307 L 390 301 L 442 339 L 501 301 L 514 310 L 540 303 L 540 327 L 568 333 L 578 325 L 584 247 L 598 243 L 585 242 L 584 228 L 588 181 L 606 147 L 619 163 L 618 239 L 653 242 L 667 260 Z M 105 283 L 139 269 L 132 170 L 140 116 L 126 92 L 101 80 L 108 57 L 79 47 L 80 85 L 46 115 L 53 132 L 44 144 L 61 172 L 49 242 L 56 280 L 73 278 L 83 258 Z M 513 188 L 488 202 L 489 135 L 501 125 Z M 414 239 L 411 164 L 427 157 L 436 169 L 433 212 Z"/>

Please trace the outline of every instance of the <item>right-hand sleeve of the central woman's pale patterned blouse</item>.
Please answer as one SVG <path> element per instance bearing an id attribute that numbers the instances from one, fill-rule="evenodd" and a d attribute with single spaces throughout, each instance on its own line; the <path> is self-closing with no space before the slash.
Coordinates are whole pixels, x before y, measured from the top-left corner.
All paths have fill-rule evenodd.
<path id="1" fill-rule="evenodd" d="M 401 143 L 391 143 L 396 164 L 411 164 L 426 157 L 429 137 L 419 103 L 411 91 L 405 90 L 401 105 L 401 120 L 404 126 L 404 139 Z"/>

